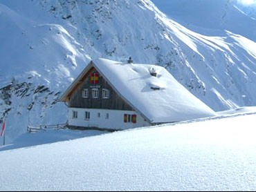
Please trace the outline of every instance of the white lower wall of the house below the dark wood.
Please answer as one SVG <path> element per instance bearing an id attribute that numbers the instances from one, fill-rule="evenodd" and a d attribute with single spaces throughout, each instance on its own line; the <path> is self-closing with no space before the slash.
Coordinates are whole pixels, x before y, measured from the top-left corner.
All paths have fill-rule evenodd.
<path id="1" fill-rule="evenodd" d="M 77 111 L 77 118 L 73 118 L 73 111 Z M 90 112 L 90 119 L 85 119 L 85 112 Z M 98 117 L 100 113 L 100 117 Z M 106 118 L 106 114 L 109 117 Z M 136 114 L 136 123 L 124 122 L 124 114 Z M 95 126 L 98 128 L 127 129 L 141 126 L 149 126 L 150 124 L 135 111 L 117 111 L 107 109 L 94 108 L 69 108 L 68 124 L 71 126 Z"/>

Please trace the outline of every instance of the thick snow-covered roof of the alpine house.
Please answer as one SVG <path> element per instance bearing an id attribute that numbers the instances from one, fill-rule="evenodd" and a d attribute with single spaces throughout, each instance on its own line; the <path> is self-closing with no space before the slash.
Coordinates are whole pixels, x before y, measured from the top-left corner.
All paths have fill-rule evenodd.
<path id="1" fill-rule="evenodd" d="M 210 117 L 214 111 L 192 95 L 162 66 L 95 59 L 91 64 L 114 90 L 151 123 Z M 87 66 L 64 96 L 85 75 Z M 156 76 L 151 75 L 156 72 Z"/>

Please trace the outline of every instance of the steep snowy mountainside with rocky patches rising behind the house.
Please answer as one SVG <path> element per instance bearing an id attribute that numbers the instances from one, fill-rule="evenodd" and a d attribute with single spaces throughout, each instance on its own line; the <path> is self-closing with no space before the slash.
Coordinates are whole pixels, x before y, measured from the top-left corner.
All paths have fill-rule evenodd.
<path id="1" fill-rule="evenodd" d="M 226 1 L 201 3 L 199 10 L 214 2 Z M 237 22 L 218 29 L 216 20 L 216 28 L 205 28 L 212 17 L 202 14 L 194 30 L 185 19 L 181 25 L 182 15 L 192 18 L 191 12 L 181 9 L 179 19 L 168 19 L 148 0 L 0 1 L 0 110 L 10 130 L 7 141 L 28 125 L 66 122 L 67 108 L 57 99 L 98 57 L 131 56 L 164 66 L 214 111 L 256 105 L 256 43 L 248 36 L 255 35 L 255 20 L 235 6 L 227 4 L 225 18 L 235 15 Z"/>

